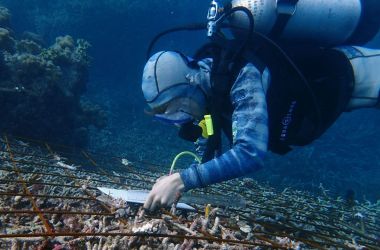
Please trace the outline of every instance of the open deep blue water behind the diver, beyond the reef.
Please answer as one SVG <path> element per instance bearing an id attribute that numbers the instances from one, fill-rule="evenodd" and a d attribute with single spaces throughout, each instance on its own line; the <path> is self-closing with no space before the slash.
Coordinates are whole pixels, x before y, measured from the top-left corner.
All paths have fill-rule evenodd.
<path id="1" fill-rule="evenodd" d="M 33 31 L 47 44 L 70 34 L 92 44 L 86 96 L 108 112 L 106 129 L 91 131 L 92 150 L 168 164 L 180 149 L 175 129 L 151 121 L 143 112 L 140 90 L 145 53 L 159 31 L 202 22 L 205 0 L 3 0 L 12 12 L 16 33 Z M 157 49 L 191 54 L 206 41 L 204 32 L 178 33 Z M 331 193 L 356 192 L 357 198 L 380 199 L 380 114 L 363 110 L 344 114 L 322 138 L 286 157 L 269 155 L 265 170 L 255 176 L 279 188 L 292 185 L 318 191 L 320 182 Z"/>

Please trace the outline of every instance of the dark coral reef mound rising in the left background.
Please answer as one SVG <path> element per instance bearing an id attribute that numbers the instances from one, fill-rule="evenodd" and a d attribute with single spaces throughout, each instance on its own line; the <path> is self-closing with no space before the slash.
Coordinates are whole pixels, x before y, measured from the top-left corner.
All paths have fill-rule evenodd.
<path id="1" fill-rule="evenodd" d="M 7 14 L 8 13 L 8 14 Z M 57 37 L 45 48 L 36 34 L 16 39 L 6 27 L 9 11 L 0 8 L 0 130 L 85 146 L 88 128 L 106 125 L 99 106 L 83 100 L 88 82 L 90 44 Z"/>

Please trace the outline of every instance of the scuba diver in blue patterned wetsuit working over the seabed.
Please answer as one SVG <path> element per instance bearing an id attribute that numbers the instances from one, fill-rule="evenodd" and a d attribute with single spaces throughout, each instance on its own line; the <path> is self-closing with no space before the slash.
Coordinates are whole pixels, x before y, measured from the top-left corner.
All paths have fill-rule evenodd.
<path id="1" fill-rule="evenodd" d="M 268 150 L 286 154 L 319 138 L 343 112 L 379 107 L 380 50 L 363 47 L 379 31 L 379 10 L 372 0 L 212 1 L 210 44 L 194 57 L 158 52 L 144 68 L 154 117 L 179 127 L 202 157 L 158 179 L 144 208 L 251 174 Z M 234 39 L 221 34 L 226 20 Z M 212 128 L 204 125 L 210 117 Z"/>

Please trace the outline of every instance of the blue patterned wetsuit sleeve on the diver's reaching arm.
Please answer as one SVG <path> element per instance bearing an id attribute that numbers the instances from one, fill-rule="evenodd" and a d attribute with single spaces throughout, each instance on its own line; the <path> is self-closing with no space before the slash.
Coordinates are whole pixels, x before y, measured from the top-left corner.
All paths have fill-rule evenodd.
<path id="1" fill-rule="evenodd" d="M 247 175 L 263 165 L 268 149 L 268 111 L 262 76 L 252 64 L 240 72 L 231 93 L 233 147 L 204 164 L 181 172 L 185 190 Z"/>

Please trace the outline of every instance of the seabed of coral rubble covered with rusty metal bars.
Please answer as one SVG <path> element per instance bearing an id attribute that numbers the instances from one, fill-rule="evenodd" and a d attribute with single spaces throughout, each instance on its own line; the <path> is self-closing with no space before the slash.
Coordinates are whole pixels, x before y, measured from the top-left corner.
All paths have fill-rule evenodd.
<path id="1" fill-rule="evenodd" d="M 0 249 L 380 249 L 379 202 L 242 179 L 194 191 L 224 205 L 146 213 L 97 187 L 150 189 L 162 166 L 7 135 L 0 163 Z"/>

